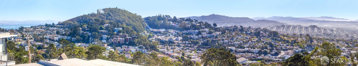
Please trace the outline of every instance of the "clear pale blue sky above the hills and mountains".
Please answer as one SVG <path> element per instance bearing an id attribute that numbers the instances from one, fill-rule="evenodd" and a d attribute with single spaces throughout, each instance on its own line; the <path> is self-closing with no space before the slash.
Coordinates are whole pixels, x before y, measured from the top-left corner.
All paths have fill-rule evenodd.
<path id="1" fill-rule="evenodd" d="M 118 7 L 142 17 L 210 14 L 231 17 L 319 17 L 358 20 L 358 0 L 0 0 L 0 20 L 59 20 Z"/>

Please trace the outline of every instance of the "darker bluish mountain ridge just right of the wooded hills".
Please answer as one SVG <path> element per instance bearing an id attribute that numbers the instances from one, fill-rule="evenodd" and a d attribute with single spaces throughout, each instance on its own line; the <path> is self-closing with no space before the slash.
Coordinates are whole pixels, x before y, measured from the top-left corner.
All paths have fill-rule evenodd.
<path id="1" fill-rule="evenodd" d="M 234 26 L 234 25 L 242 25 L 242 26 L 274 26 L 274 25 L 286 25 L 282 22 L 272 21 L 272 20 L 253 20 L 248 17 L 229 17 L 223 15 L 208 15 L 208 16 L 190 16 L 184 17 L 195 19 L 198 21 L 205 21 L 209 24 L 216 23 L 218 26 Z"/>

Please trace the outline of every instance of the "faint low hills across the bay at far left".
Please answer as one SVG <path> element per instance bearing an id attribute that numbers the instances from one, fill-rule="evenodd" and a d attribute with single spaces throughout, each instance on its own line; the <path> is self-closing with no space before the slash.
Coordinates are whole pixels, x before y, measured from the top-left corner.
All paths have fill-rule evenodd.
<path id="1" fill-rule="evenodd" d="M 56 20 L 26 20 L 26 21 L 0 21 L 0 25 L 20 25 L 20 24 L 57 24 Z"/>

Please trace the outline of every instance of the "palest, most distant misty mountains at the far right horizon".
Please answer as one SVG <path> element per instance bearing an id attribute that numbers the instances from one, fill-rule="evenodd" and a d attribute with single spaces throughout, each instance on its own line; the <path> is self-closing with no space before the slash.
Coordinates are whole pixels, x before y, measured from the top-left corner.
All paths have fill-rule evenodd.
<path id="1" fill-rule="evenodd" d="M 272 17 L 254 17 L 253 20 L 274 20 L 279 22 L 284 22 L 292 25 L 317 25 L 321 27 L 344 27 L 351 29 L 358 29 L 358 20 L 348 20 L 342 18 L 321 16 L 321 17 L 282 17 L 282 16 L 272 16 Z"/>

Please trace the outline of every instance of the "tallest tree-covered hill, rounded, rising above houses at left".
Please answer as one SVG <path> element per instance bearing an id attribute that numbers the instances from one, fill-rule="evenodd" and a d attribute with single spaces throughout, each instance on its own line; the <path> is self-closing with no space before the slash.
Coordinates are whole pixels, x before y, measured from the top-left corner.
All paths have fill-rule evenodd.
<path id="1" fill-rule="evenodd" d="M 100 22 L 96 22 L 100 21 Z M 87 15 L 81 15 L 74 17 L 72 19 L 59 22 L 58 25 L 63 25 L 66 28 L 70 28 L 74 25 L 79 24 L 93 24 L 93 25 L 103 25 L 108 24 L 108 22 L 114 21 L 118 24 L 125 24 L 132 27 L 136 32 L 145 31 L 146 23 L 143 21 L 142 17 L 137 14 L 133 14 L 127 10 L 119 8 L 105 8 L 98 9 L 97 13 L 91 13 Z"/>

